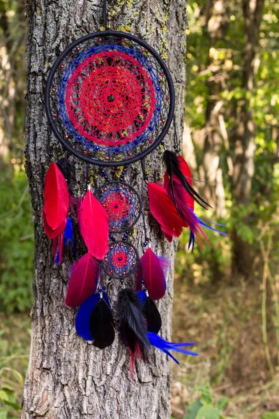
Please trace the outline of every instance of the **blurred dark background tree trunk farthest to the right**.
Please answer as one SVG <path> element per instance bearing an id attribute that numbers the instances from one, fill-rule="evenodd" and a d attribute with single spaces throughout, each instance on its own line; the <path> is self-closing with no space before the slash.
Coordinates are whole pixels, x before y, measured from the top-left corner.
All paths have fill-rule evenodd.
<path id="1" fill-rule="evenodd" d="M 234 138 L 235 161 L 232 178 L 233 197 L 236 205 L 247 206 L 250 203 L 252 178 L 254 176 L 255 123 L 252 119 L 250 99 L 255 84 L 254 58 L 259 39 L 259 25 L 262 22 L 264 0 L 243 0 L 244 48 L 242 88 L 245 92 L 237 103 L 237 126 Z M 249 224 L 249 216 L 243 219 Z M 232 233 L 235 273 L 245 277 L 251 274 L 253 262 L 252 249 L 248 242 L 234 230 Z M 243 257 L 245 255 L 245 257 Z"/>

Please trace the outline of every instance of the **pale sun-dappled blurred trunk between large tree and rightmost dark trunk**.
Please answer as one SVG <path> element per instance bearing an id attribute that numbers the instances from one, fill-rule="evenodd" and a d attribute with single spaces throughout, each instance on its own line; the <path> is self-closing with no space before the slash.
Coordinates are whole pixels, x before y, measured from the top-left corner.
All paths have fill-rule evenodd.
<path id="1" fill-rule="evenodd" d="M 227 9 L 227 0 L 211 0 L 206 2 L 201 11 L 203 33 L 209 38 L 208 67 L 212 68 L 213 75 L 206 80 L 208 88 L 206 138 L 204 140 L 202 166 L 199 168 L 199 172 L 201 178 L 206 180 L 206 184 L 201 185 L 203 188 L 202 194 L 214 208 L 216 216 L 225 216 L 226 214 L 223 172 L 220 168 L 223 136 L 219 122 L 220 109 L 223 105 L 220 93 L 223 90 L 225 74 L 220 65 L 216 65 L 218 57 L 215 57 L 215 54 L 211 52 L 211 48 L 217 48 L 216 42 L 225 38 L 228 27 Z"/>

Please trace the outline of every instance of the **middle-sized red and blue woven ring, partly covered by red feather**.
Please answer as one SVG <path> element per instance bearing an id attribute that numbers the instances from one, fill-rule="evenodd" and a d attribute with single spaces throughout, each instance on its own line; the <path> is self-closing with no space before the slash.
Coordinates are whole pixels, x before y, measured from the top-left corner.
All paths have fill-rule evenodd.
<path id="1" fill-rule="evenodd" d="M 95 196 L 107 212 L 111 233 L 129 230 L 140 218 L 140 198 L 128 184 L 105 184 L 96 191 Z"/>

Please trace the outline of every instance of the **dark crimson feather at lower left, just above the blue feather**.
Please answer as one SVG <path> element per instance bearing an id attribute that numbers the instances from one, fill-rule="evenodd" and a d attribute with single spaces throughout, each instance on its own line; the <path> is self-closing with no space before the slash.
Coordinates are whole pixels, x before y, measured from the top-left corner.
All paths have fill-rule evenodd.
<path id="1" fill-rule="evenodd" d="M 71 276 L 68 284 L 66 305 L 68 307 L 80 307 L 86 298 L 96 291 L 100 263 L 89 253 L 77 260 L 71 268 Z"/>

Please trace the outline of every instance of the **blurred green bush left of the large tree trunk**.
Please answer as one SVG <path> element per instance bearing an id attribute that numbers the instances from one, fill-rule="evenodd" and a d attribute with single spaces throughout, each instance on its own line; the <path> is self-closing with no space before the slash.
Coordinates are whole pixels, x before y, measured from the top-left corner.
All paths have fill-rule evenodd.
<path id="1" fill-rule="evenodd" d="M 31 307 L 33 224 L 23 170 L 1 174 L 0 196 L 1 309 L 24 311 Z"/>

